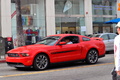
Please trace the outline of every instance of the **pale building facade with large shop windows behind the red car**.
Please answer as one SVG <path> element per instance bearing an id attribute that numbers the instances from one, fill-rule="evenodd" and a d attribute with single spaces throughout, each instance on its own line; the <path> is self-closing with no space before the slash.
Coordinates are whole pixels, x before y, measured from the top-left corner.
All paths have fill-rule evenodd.
<path id="1" fill-rule="evenodd" d="M 120 0 L 21 0 L 24 35 L 61 33 L 93 34 L 116 32 L 115 24 L 104 22 L 120 17 Z M 0 36 L 16 40 L 16 9 L 14 0 L 0 0 Z M 32 33 L 28 33 L 29 30 Z"/>

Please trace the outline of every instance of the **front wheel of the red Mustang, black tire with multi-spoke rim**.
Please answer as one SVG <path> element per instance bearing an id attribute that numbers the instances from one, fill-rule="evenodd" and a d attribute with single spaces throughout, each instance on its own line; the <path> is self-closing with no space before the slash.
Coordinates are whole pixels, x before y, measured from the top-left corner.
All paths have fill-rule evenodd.
<path id="1" fill-rule="evenodd" d="M 49 59 L 45 54 L 38 54 L 33 63 L 35 70 L 44 70 L 49 66 Z"/>

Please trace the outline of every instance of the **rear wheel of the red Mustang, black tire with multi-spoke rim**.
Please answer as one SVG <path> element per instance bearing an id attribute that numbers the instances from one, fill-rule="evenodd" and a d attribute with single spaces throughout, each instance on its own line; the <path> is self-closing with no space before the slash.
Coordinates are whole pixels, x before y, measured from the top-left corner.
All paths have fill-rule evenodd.
<path id="1" fill-rule="evenodd" d="M 86 62 L 89 64 L 95 64 L 98 61 L 98 51 L 95 49 L 91 49 L 86 57 Z"/>

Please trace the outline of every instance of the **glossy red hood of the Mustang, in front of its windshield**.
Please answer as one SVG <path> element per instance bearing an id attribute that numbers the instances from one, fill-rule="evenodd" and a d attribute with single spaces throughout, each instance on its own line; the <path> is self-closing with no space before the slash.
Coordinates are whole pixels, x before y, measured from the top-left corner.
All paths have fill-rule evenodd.
<path id="1" fill-rule="evenodd" d="M 36 49 L 45 49 L 48 48 L 50 46 L 48 45 L 43 45 L 43 44 L 35 44 L 35 45 L 27 45 L 27 46 L 22 46 L 22 47 L 18 47 L 15 49 L 12 49 L 10 51 L 8 51 L 7 53 L 28 53 L 31 50 L 36 50 Z"/>

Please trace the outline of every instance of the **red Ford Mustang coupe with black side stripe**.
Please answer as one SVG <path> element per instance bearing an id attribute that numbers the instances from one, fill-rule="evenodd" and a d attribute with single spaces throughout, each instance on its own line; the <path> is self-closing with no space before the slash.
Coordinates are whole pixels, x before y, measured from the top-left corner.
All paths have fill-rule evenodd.
<path id="1" fill-rule="evenodd" d="M 65 41 L 69 39 L 71 44 Z M 7 52 L 6 61 L 15 68 L 30 67 L 46 69 L 50 63 L 84 60 L 94 64 L 105 56 L 105 45 L 101 39 L 77 34 L 51 35 L 34 45 L 27 45 Z"/>

